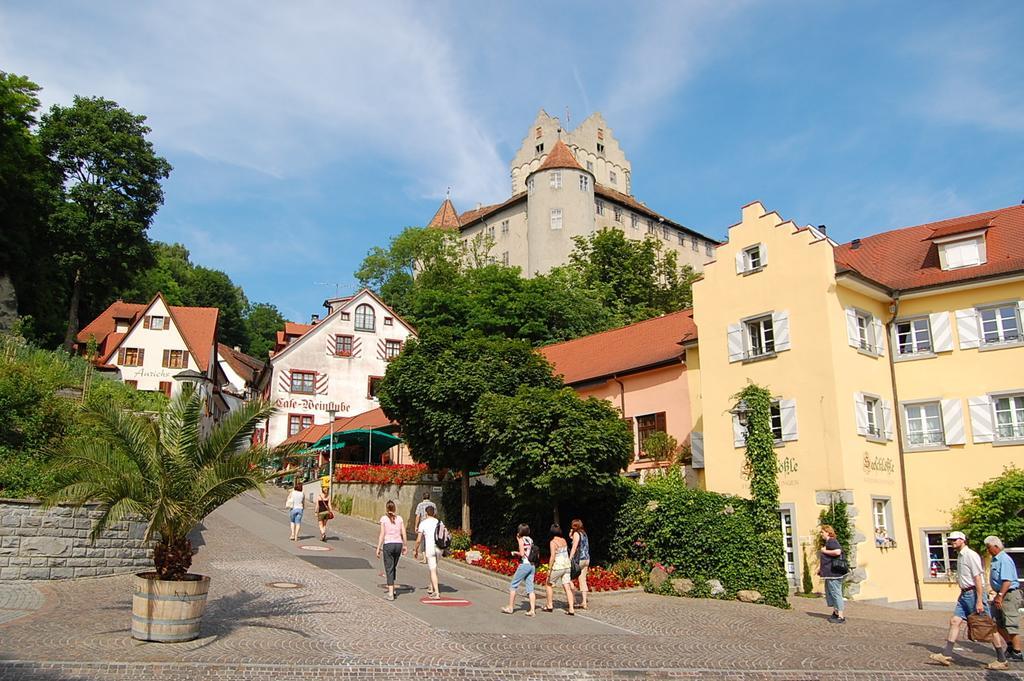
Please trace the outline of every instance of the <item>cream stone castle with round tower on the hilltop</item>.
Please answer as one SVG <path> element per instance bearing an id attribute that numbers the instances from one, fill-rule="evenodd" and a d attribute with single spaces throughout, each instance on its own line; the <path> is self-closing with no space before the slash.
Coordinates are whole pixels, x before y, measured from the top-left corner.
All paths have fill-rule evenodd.
<path id="1" fill-rule="evenodd" d="M 574 130 L 541 111 L 511 164 L 512 196 L 460 214 L 445 199 L 429 226 L 492 244 L 495 262 L 526 276 L 568 262 L 574 237 L 603 228 L 648 235 L 699 271 L 717 242 L 649 209 L 633 196 L 633 168 L 600 114 Z"/>

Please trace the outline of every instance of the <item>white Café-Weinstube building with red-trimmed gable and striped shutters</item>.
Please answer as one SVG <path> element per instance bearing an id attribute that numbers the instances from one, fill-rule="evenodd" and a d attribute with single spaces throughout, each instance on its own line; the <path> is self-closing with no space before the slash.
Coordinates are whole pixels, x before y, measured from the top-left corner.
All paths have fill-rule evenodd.
<path id="1" fill-rule="evenodd" d="M 278 333 L 263 394 L 278 408 L 267 424 L 276 445 L 329 414 L 349 417 L 377 409 L 377 385 L 388 361 L 416 331 L 369 289 L 324 303 L 313 324 L 287 323 Z"/>

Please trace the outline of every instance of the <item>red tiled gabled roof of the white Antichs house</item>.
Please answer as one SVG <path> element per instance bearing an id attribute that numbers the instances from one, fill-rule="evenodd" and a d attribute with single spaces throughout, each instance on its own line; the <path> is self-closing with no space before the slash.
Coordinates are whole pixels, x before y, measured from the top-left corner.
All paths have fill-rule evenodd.
<path id="1" fill-rule="evenodd" d="M 111 357 L 121 346 L 131 332 L 141 322 L 145 311 L 153 307 L 157 300 L 161 300 L 170 314 L 171 322 L 185 346 L 194 357 L 200 369 L 204 372 L 210 368 L 210 356 L 212 354 L 214 340 L 217 337 L 217 316 L 220 313 L 216 307 L 178 307 L 168 305 L 162 293 L 158 293 L 148 303 L 126 303 L 123 300 L 115 301 L 100 312 L 99 316 L 87 324 L 82 331 L 78 332 L 76 339 L 79 343 L 87 343 L 90 338 L 95 338 L 99 348 L 98 364 L 110 363 Z M 125 333 L 115 333 L 117 329 L 116 320 L 128 320 L 130 326 Z"/>

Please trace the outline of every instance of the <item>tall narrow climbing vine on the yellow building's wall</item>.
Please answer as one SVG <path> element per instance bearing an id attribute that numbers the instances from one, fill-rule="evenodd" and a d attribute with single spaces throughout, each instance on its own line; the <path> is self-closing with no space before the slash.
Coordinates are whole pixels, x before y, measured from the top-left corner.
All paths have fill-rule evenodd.
<path id="1" fill-rule="evenodd" d="M 788 606 L 790 583 L 785 574 L 785 548 L 778 518 L 778 459 L 771 431 L 771 393 L 748 385 L 735 399 L 746 410 L 745 471 L 751 481 L 754 541 L 763 557 L 759 565 L 765 602 Z"/>

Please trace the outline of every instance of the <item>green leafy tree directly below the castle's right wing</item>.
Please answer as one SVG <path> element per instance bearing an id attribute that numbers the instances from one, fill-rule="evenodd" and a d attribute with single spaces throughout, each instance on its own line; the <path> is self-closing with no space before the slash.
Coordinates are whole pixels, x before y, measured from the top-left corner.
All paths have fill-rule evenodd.
<path id="1" fill-rule="evenodd" d="M 664 251 L 650 236 L 629 239 L 621 229 L 601 229 L 577 237 L 569 267 L 584 285 L 626 324 L 688 307 L 696 273 L 679 266 L 675 251 Z"/>

